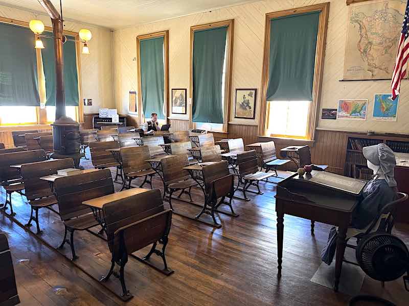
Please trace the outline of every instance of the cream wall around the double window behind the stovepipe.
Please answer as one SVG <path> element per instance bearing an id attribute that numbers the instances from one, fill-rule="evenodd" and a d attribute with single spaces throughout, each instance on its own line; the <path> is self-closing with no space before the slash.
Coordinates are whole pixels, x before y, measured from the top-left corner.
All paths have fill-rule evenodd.
<path id="1" fill-rule="evenodd" d="M 32 12 L 0 5 L 0 16 L 20 21 L 30 21 L 35 15 Z M 37 19 L 51 27 L 51 19 L 37 15 Z M 82 95 L 92 98 L 93 106 L 84 106 L 84 113 L 97 113 L 100 107 L 113 108 L 112 65 L 111 65 L 111 32 L 109 29 L 79 22 L 65 21 L 64 29 L 78 32 L 82 28 L 93 34 L 89 41 L 89 55 L 81 55 Z"/>

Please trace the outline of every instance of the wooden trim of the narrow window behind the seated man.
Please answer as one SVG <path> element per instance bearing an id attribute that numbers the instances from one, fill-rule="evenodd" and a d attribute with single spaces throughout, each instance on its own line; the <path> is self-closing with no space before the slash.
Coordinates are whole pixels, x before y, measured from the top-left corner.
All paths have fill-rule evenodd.
<path id="1" fill-rule="evenodd" d="M 149 33 L 144 35 L 137 36 L 137 69 L 138 69 L 138 123 L 145 122 L 145 114 L 143 114 L 143 106 L 142 106 L 142 80 L 141 80 L 141 55 L 140 55 L 140 47 L 141 47 L 141 40 L 149 39 L 149 38 L 156 38 L 156 37 L 163 37 L 163 45 L 164 45 L 164 69 L 165 69 L 165 93 L 164 93 L 164 104 L 165 104 L 165 121 L 166 124 L 169 123 L 168 116 L 169 113 L 169 31 L 161 31 L 155 33 Z"/>

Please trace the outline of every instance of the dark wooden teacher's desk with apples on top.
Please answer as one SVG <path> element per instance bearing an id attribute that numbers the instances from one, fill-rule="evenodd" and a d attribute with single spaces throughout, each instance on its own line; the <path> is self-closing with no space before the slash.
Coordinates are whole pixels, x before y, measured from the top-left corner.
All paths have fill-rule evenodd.
<path id="1" fill-rule="evenodd" d="M 332 183 L 320 185 L 311 181 L 317 172 L 334 176 Z M 365 181 L 351 179 L 322 171 L 312 171 L 311 174 L 299 176 L 297 173 L 289 176 L 277 185 L 276 212 L 277 212 L 277 248 L 278 274 L 281 276 L 284 237 L 284 214 L 310 219 L 311 234 L 314 233 L 314 221 L 338 226 L 336 241 L 335 282 L 334 290 L 338 290 L 342 263 L 346 247 L 346 233 L 352 213 L 359 202 L 359 194 L 336 190 L 337 180 L 353 180 L 351 189 L 363 188 Z M 329 181 L 331 182 L 331 181 Z M 360 190 L 362 189 L 360 188 Z"/>

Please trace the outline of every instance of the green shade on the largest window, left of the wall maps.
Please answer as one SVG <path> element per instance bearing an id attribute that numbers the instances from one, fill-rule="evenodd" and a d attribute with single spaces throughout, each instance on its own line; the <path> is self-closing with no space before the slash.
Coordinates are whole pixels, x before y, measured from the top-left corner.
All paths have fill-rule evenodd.
<path id="1" fill-rule="evenodd" d="M 267 100 L 312 100 L 320 12 L 271 19 Z"/>

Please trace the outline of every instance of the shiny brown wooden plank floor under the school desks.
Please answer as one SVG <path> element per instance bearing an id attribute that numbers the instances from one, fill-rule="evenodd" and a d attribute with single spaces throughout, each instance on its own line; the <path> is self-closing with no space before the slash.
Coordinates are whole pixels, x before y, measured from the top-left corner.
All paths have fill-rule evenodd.
<path id="1" fill-rule="evenodd" d="M 90 167 L 89 161 L 81 164 Z M 223 227 L 218 230 L 173 215 L 167 260 L 175 273 L 165 276 L 130 258 L 125 279 L 134 298 L 127 303 L 0 214 L 0 230 L 9 239 L 21 305 L 346 305 L 350 296 L 310 282 L 321 264 L 329 225 L 316 223 L 315 236 L 311 236 L 309 220 L 285 216 L 283 275 L 277 278 L 275 184 L 260 186 L 264 195 L 248 194 L 252 197 L 249 202 L 234 200 L 238 218 L 219 215 Z M 161 188 L 161 182 L 155 180 L 154 187 Z M 116 190 L 119 188 L 116 184 Z M 3 190 L 0 196 L 4 201 Z M 194 199 L 202 201 L 199 191 Z M 16 219 L 27 222 L 30 208 L 26 199 L 14 194 L 13 202 Z M 175 209 L 192 215 L 198 211 L 184 202 L 172 203 Z M 42 209 L 40 221 L 42 239 L 57 246 L 63 229 L 59 216 Z M 408 226 L 398 226 L 394 234 L 409 243 Z M 92 276 L 103 276 L 110 266 L 106 242 L 78 232 L 75 244 L 77 264 Z M 62 252 L 69 256 L 69 246 Z M 110 282 L 118 284 L 119 292 L 118 279 L 112 277 Z M 366 277 L 361 292 L 398 305 L 405 304 L 408 296 L 401 279 L 381 288 Z"/>

